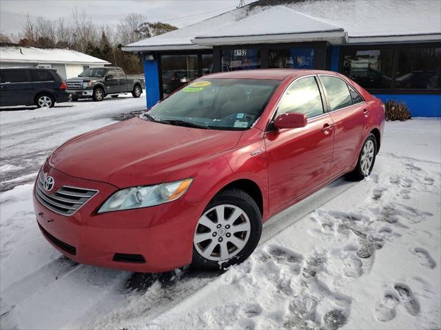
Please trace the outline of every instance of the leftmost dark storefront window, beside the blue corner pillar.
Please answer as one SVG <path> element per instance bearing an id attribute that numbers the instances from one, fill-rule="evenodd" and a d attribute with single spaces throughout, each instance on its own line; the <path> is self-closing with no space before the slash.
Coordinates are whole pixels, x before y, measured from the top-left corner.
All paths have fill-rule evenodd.
<path id="1" fill-rule="evenodd" d="M 162 55 L 161 69 L 164 96 L 198 78 L 198 56 Z"/>

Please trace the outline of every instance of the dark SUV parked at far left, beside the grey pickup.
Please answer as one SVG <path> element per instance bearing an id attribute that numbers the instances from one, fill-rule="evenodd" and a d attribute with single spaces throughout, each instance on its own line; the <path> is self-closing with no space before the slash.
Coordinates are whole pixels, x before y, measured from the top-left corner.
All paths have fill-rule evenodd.
<path id="1" fill-rule="evenodd" d="M 55 102 L 69 100 L 66 88 L 65 81 L 54 69 L 0 69 L 0 107 L 36 105 L 52 108 Z"/>

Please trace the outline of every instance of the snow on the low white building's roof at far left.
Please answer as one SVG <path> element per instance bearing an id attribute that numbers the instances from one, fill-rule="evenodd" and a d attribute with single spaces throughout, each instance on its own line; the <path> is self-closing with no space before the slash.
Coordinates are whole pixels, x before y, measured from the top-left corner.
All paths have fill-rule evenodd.
<path id="1" fill-rule="evenodd" d="M 37 48 L 21 45 L 1 45 L 0 62 L 110 64 L 100 58 L 67 48 Z"/>

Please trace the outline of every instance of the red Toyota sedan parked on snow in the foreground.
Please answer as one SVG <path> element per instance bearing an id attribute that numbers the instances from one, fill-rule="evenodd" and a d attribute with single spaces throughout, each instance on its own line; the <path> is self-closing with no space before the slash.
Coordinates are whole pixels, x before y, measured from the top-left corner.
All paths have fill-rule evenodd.
<path id="1" fill-rule="evenodd" d="M 369 175 L 383 128 L 382 102 L 334 72 L 212 74 L 57 148 L 35 214 L 79 263 L 219 269 L 247 259 L 277 212 L 342 175 Z"/>

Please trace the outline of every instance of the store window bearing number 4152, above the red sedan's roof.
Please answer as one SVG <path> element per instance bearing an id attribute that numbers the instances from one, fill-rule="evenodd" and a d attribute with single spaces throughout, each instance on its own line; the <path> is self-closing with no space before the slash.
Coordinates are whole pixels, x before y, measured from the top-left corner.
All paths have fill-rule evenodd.
<path id="1" fill-rule="evenodd" d="M 260 50 L 223 50 L 221 70 L 260 69 Z"/>

